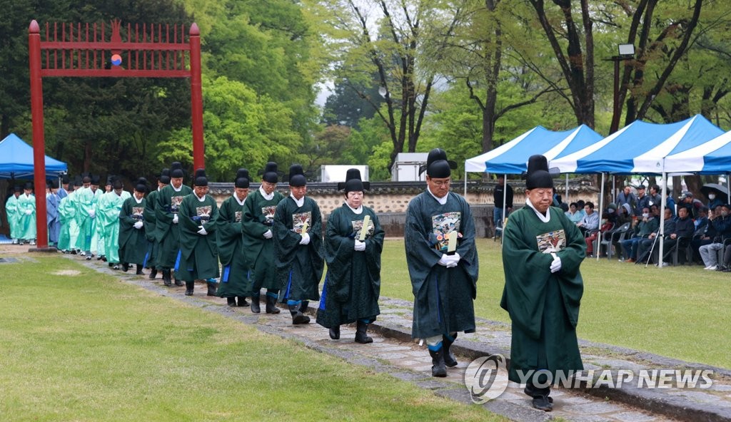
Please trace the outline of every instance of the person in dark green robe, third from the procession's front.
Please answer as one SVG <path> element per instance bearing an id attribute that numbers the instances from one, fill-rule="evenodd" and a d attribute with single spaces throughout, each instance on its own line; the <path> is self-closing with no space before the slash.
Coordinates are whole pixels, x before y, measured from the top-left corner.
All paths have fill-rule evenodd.
<path id="1" fill-rule="evenodd" d="M 317 323 L 330 329 L 330 338 L 340 338 L 340 326 L 356 323 L 355 342 L 372 343 L 368 324 L 381 313 L 381 252 L 385 232 L 378 215 L 363 205 L 363 192 L 370 183 L 360 180 L 358 169 L 349 169 L 345 203 L 327 218 L 325 261 L 327 275 L 317 310 Z"/>

